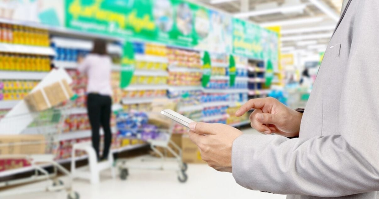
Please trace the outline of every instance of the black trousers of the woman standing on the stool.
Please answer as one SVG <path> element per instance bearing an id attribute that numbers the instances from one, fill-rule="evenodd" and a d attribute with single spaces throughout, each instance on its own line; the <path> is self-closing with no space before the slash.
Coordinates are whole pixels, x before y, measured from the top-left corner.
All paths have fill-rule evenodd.
<path id="1" fill-rule="evenodd" d="M 99 157 L 100 144 L 100 125 L 104 130 L 104 151 L 103 158 L 108 157 L 112 141 L 110 126 L 112 99 L 110 96 L 103 96 L 95 93 L 89 93 L 87 96 L 87 111 L 89 123 L 92 131 L 92 146 L 96 151 L 97 159 Z"/>

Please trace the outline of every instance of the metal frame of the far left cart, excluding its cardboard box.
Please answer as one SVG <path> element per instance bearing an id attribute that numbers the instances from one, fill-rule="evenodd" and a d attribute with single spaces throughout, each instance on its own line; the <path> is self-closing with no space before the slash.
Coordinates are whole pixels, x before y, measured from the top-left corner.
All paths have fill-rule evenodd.
<path id="1" fill-rule="evenodd" d="M 9 190 L 0 192 L 0 197 L 40 191 L 66 190 L 68 199 L 79 199 L 79 194 L 72 190 L 72 177 L 70 171 L 55 161 L 56 154 L 59 152 L 59 134 L 62 132 L 64 120 L 66 119 L 67 114 L 69 114 L 69 112 L 66 111 L 69 104 L 70 103 L 60 108 L 50 108 L 49 110 L 41 112 L 18 114 L 14 116 L 4 117 L 2 119 L 1 122 L 5 122 L 7 126 L 9 125 L 8 129 L 11 129 L 12 125 L 17 125 L 17 122 L 20 122 L 25 118 L 32 118 L 33 127 L 26 128 L 21 132 L 21 134 L 42 134 L 45 139 L 44 141 L 40 142 L 0 143 L 0 147 L 44 144 L 45 154 L 0 154 L 0 159 L 26 159 L 31 164 L 31 171 L 34 170 L 34 174 L 30 177 L 0 182 L 0 188 L 27 184 L 31 182 L 45 181 L 46 183 L 43 186 L 36 186 L 30 190 L 22 187 L 10 188 Z M 6 130 L 2 129 L 0 130 L 0 133 L 6 134 L 7 132 Z M 53 167 L 53 172 L 49 173 L 45 167 Z M 58 179 L 58 171 L 64 175 L 69 176 L 67 184 L 64 184 L 62 180 Z"/>

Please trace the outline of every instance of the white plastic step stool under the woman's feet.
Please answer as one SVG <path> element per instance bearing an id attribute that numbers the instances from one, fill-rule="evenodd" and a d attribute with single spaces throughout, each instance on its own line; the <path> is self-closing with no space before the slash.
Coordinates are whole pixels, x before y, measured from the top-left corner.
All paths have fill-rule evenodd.
<path id="1" fill-rule="evenodd" d="M 89 162 L 89 171 L 78 170 L 75 168 L 75 151 L 81 150 L 86 151 L 88 155 Z M 112 177 L 116 177 L 116 170 L 113 167 L 113 154 L 110 152 L 108 154 L 108 160 L 97 162 L 96 152 L 92 147 L 92 142 L 80 142 L 75 143 L 72 146 L 71 152 L 71 175 L 72 179 L 74 178 L 82 178 L 88 179 L 91 184 L 97 184 L 100 182 L 100 171 L 110 168 Z"/>

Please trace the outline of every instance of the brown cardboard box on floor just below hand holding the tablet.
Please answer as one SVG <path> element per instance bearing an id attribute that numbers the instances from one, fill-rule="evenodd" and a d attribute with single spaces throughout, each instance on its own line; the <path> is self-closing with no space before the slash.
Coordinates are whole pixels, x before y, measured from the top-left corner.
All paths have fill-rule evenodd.
<path id="1" fill-rule="evenodd" d="M 182 136 L 182 159 L 185 163 L 206 163 L 201 159 L 199 148 L 189 139 L 187 134 Z"/>

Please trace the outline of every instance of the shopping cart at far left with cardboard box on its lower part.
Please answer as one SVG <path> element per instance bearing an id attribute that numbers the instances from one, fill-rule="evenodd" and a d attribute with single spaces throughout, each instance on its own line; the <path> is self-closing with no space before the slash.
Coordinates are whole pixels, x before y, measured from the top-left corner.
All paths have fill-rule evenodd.
<path id="1" fill-rule="evenodd" d="M 40 112 L 14 114 L 0 120 L 2 127 L 0 135 L 15 139 L 9 142 L 4 142 L 3 140 L 3 142 L 0 142 L 0 160 L 27 160 L 30 163 L 28 168 L 30 168 L 30 171 L 34 171 L 34 174 L 30 177 L 0 182 L 0 188 L 5 189 L 5 191 L 0 192 L 0 197 L 39 191 L 66 190 L 68 199 L 79 199 L 79 194 L 72 190 L 70 172 L 55 161 L 59 152 L 59 135 L 64 127 L 65 117 L 69 114 L 69 111 L 67 111 L 69 104 Z M 32 122 L 20 134 L 9 135 L 9 132 L 13 132 L 15 126 L 25 121 Z M 21 138 L 17 139 L 20 136 Z M 49 167 L 53 168 L 50 173 Z M 9 171 L 11 170 L 3 172 Z M 58 171 L 69 176 L 68 182 L 64 184 L 62 180 L 58 179 Z M 39 182 L 38 185 L 41 186 L 33 186 L 30 190 L 15 186 L 32 182 Z M 12 186 L 12 188 L 8 186 Z"/>

